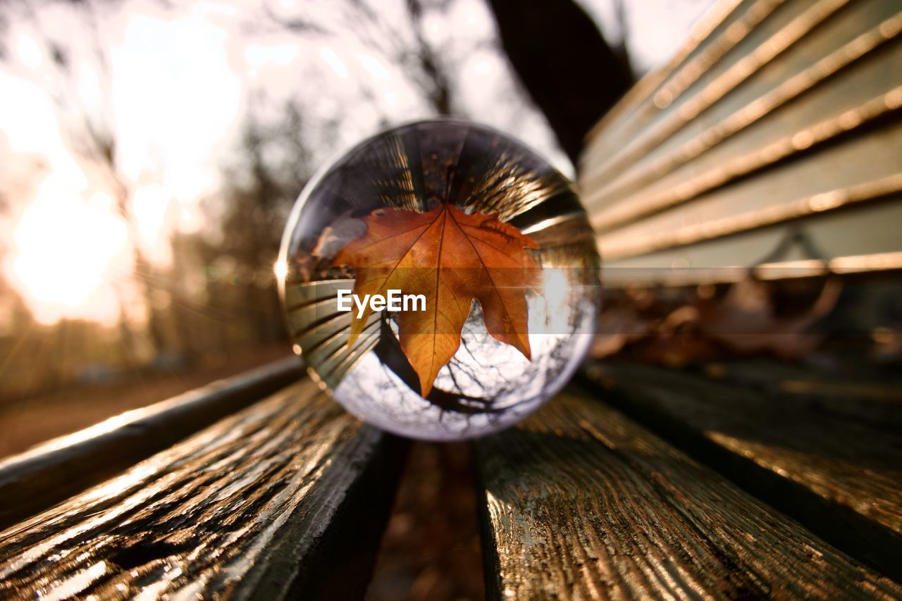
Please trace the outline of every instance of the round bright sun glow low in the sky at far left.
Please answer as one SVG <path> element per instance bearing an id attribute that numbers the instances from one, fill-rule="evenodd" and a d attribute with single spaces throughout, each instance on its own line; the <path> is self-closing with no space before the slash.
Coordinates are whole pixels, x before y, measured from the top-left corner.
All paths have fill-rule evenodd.
<path id="1" fill-rule="evenodd" d="M 10 267 L 39 322 L 112 324 L 119 307 L 113 283 L 131 273 L 127 227 L 106 195 L 72 198 L 51 178 L 15 227 Z"/>

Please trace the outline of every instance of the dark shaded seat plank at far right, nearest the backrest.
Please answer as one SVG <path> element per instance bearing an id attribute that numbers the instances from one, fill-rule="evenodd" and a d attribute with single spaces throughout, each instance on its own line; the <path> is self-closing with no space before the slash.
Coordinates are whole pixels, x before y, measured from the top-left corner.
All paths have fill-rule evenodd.
<path id="1" fill-rule="evenodd" d="M 875 400 L 877 386 L 859 386 L 850 396 L 849 384 L 835 380 L 834 393 L 786 393 L 775 390 L 777 382 L 715 382 L 648 365 L 598 363 L 586 374 L 623 411 L 825 540 L 902 579 L 897 387 Z"/>

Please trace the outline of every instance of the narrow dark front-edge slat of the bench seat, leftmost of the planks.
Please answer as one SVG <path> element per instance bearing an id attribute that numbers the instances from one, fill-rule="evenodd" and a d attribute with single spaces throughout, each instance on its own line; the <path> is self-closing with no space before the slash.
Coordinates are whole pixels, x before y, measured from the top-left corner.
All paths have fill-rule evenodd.
<path id="1" fill-rule="evenodd" d="M 263 365 L 149 407 L 126 411 L 0 462 L 0 528 L 170 447 L 304 374 L 298 357 Z"/>

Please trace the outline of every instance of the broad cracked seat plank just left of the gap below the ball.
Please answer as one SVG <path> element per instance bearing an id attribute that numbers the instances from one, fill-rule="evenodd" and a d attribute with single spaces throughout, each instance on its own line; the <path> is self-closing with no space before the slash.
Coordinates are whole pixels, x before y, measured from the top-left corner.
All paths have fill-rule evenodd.
<path id="1" fill-rule="evenodd" d="M 294 384 L 0 533 L 0 596 L 360 595 L 396 451 Z"/>

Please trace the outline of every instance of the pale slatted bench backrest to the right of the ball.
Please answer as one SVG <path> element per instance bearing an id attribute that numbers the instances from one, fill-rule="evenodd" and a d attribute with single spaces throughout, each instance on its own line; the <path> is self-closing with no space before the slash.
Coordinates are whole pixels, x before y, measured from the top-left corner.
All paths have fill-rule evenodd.
<path id="1" fill-rule="evenodd" d="M 605 284 L 902 268 L 902 11 L 724 2 L 589 134 Z"/>

